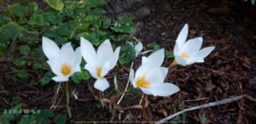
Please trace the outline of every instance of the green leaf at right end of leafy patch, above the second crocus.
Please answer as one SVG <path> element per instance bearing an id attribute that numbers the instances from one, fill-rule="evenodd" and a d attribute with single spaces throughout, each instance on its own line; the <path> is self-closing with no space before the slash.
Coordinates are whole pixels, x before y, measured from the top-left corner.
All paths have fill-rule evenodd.
<path id="1" fill-rule="evenodd" d="M 132 33 L 136 31 L 136 26 L 131 19 L 125 16 L 122 20 L 119 20 L 110 27 L 113 31 L 121 33 Z"/>

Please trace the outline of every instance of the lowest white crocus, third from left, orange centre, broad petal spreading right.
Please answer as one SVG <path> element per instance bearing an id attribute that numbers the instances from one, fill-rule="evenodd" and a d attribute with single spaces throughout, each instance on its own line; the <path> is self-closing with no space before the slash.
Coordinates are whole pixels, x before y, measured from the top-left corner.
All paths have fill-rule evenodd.
<path id="1" fill-rule="evenodd" d="M 164 82 L 168 68 L 160 67 L 165 58 L 165 50 L 162 48 L 147 57 L 143 57 L 143 64 L 137 69 L 131 69 L 129 80 L 133 87 L 139 87 L 143 93 L 154 96 L 169 96 L 177 93 L 179 88 L 170 83 Z M 135 77 L 134 77 L 135 75 Z"/>

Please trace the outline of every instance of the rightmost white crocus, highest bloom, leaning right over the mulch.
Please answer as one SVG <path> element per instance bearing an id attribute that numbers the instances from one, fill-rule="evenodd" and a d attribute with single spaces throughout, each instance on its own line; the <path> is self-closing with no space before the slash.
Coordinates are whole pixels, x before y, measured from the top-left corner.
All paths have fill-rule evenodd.
<path id="1" fill-rule="evenodd" d="M 189 27 L 184 25 L 182 31 L 179 32 L 176 44 L 173 50 L 175 56 L 174 65 L 191 65 L 194 63 L 204 62 L 204 58 L 209 55 L 215 47 L 202 48 L 202 37 L 196 37 L 186 42 Z M 201 50 L 200 50 L 201 49 Z"/>

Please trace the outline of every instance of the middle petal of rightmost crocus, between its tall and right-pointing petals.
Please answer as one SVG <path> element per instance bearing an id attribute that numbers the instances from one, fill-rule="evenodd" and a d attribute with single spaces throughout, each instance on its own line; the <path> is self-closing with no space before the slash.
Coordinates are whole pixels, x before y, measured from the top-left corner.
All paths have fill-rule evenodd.
<path id="1" fill-rule="evenodd" d="M 187 52 L 187 54 L 192 55 L 199 51 L 199 49 L 201 48 L 201 45 L 202 45 L 202 37 L 197 37 L 186 42 L 182 48 L 183 49 L 182 51 L 185 51 Z"/>

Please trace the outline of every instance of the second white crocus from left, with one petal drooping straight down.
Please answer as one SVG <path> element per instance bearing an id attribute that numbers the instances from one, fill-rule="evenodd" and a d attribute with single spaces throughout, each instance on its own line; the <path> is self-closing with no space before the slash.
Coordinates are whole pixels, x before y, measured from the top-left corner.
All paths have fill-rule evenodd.
<path id="1" fill-rule="evenodd" d="M 97 49 L 97 53 L 92 44 L 81 37 L 81 52 L 86 65 L 84 69 L 90 72 L 90 75 L 96 78 L 94 87 L 100 91 L 105 91 L 109 87 L 108 81 L 104 78 L 109 70 L 112 70 L 119 59 L 120 47 L 113 48 L 109 40 L 102 42 Z"/>

